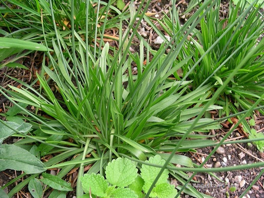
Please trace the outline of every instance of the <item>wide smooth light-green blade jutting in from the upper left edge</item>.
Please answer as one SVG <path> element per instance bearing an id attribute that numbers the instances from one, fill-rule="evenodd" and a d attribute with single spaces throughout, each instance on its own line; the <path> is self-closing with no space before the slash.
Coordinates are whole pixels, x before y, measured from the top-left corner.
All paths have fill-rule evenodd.
<path id="1" fill-rule="evenodd" d="M 48 51 L 47 47 L 31 41 L 24 41 L 21 39 L 4 38 L 0 37 L 0 49 L 1 48 L 18 48 L 29 49 L 37 51 Z"/>

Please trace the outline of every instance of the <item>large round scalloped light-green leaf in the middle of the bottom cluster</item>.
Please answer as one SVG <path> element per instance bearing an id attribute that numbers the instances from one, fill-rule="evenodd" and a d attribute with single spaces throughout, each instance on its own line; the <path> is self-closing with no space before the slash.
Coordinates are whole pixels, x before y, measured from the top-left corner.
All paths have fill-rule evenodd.
<path id="1" fill-rule="evenodd" d="M 138 169 L 136 164 L 127 158 L 113 159 L 106 166 L 107 181 L 118 187 L 126 187 L 135 181 Z"/>

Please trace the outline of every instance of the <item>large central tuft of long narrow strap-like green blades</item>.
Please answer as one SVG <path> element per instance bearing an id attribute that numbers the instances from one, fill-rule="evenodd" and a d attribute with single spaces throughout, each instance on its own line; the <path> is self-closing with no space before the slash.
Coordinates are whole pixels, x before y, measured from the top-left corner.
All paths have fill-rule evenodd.
<path id="1" fill-rule="evenodd" d="M 12 2 L 17 1 L 12 0 Z M 100 2 L 99 0 L 98 3 L 100 4 Z M 77 3 L 70 1 L 70 11 L 68 7 L 65 7 L 68 12 L 64 12 L 67 13 L 71 27 L 68 30 L 67 35 L 69 37 L 67 39 L 62 39 L 64 38 L 60 30 L 62 26 L 57 26 L 57 21 L 61 19 L 58 18 L 61 17 L 58 10 L 64 6 L 63 2 L 50 0 L 47 4 L 49 6 L 40 5 L 46 11 L 50 10 L 44 14 L 40 9 L 40 16 L 35 19 L 37 24 L 41 24 L 41 41 L 44 41 L 43 44 L 47 47 L 47 52 L 43 58 L 42 72 L 37 74 L 38 79 L 32 84 L 26 84 L 12 78 L 21 84 L 21 88 L 9 86 L 10 91 L 0 87 L 0 93 L 15 105 L 9 109 L 9 114 L 8 112 L 4 114 L 10 122 L 0 120 L 2 126 L 10 129 L 5 136 L 0 138 L 5 139 L 11 135 L 23 137 L 22 140 L 11 146 L 12 149 L 23 149 L 24 153 L 28 153 L 28 155 L 31 153 L 37 157 L 50 155 L 52 158 L 42 164 L 36 157 L 34 160 L 38 169 L 34 172 L 35 174 L 20 182 L 9 192 L 9 196 L 20 191 L 30 181 L 33 181 L 33 178 L 39 177 L 39 174 L 44 170 L 51 168 L 60 168 L 60 171 L 56 177 L 43 173 L 43 182 L 55 189 L 55 193 L 59 193 L 61 188 L 70 191 L 69 184 L 60 178 L 67 175 L 73 168 L 78 168 L 76 193 L 77 197 L 81 197 L 83 195 L 81 178 L 84 174 L 84 166 L 91 165 L 88 174 L 100 173 L 104 175 L 107 162 L 120 156 L 139 162 L 137 164 L 139 169 L 144 167 L 142 164 L 159 168 L 155 178 L 151 181 L 152 183 L 148 184 L 145 192 L 146 198 L 152 195 L 151 192 L 157 186 L 156 183 L 165 169 L 169 170 L 170 175 L 183 185 L 177 186 L 179 191 L 176 197 L 184 191 L 189 195 L 201 198 L 206 195 L 199 193 L 193 187 L 188 190 L 185 189 L 197 172 L 208 172 L 214 176 L 212 172 L 264 165 L 263 163 L 255 163 L 236 167 L 203 168 L 210 156 L 223 144 L 224 140 L 242 122 L 245 116 L 254 109 L 263 108 L 263 106 L 258 106 L 263 102 L 264 95 L 262 94 L 247 111 L 232 115 L 241 116 L 241 119 L 219 143 L 206 140 L 210 137 L 207 135 L 210 129 L 220 128 L 219 123 L 231 117 L 227 115 L 218 120 L 213 120 L 206 116 L 206 112 L 223 108 L 215 105 L 215 101 L 222 95 L 224 89 L 230 86 L 230 82 L 239 75 L 244 65 L 250 61 L 254 63 L 259 61 L 259 57 L 258 59 L 256 56 L 253 58 L 253 56 L 263 49 L 264 40 L 254 43 L 249 39 L 247 53 L 243 56 L 240 55 L 236 65 L 231 65 L 232 70 L 225 74 L 226 76 L 220 85 L 214 85 L 215 81 L 200 85 L 195 82 L 196 79 L 190 80 L 194 76 L 194 71 L 198 72 L 197 68 L 202 67 L 201 65 L 203 68 L 207 66 L 205 65 L 205 57 L 210 56 L 211 64 L 216 61 L 215 55 L 218 53 L 218 45 L 220 45 L 221 39 L 232 35 L 233 31 L 231 30 L 234 30 L 234 26 L 243 17 L 254 13 L 254 11 L 251 12 L 252 5 L 238 16 L 233 16 L 234 19 L 226 27 L 226 30 L 221 32 L 222 34 L 218 35 L 216 39 L 211 40 L 208 49 L 203 49 L 204 53 L 202 53 L 202 49 L 198 48 L 200 44 L 191 46 L 188 38 L 191 33 L 194 33 L 198 38 L 196 27 L 198 24 L 205 27 L 207 25 L 205 19 L 208 17 L 211 17 L 211 20 L 218 20 L 215 10 L 219 7 L 219 0 L 206 0 L 183 26 L 177 22 L 171 23 L 172 32 L 170 35 L 172 38 L 169 42 L 164 42 L 158 50 L 151 49 L 149 44 L 137 34 L 140 24 L 135 23 L 137 17 L 139 17 L 139 21 L 144 18 L 151 23 L 151 20 L 145 15 L 149 3 L 150 0 L 147 2 L 143 0 L 138 10 L 135 9 L 133 3 L 129 5 L 130 20 L 125 31 L 122 27 L 123 23 L 127 22 L 127 15 L 121 14 L 116 18 L 119 28 L 119 48 L 111 48 L 102 39 L 98 41 L 99 47 L 94 48 L 96 42 L 93 43 L 91 38 L 97 38 L 99 31 L 91 31 L 91 29 L 93 30 L 93 27 L 96 29 L 99 15 L 91 14 L 94 13 L 94 10 L 91 10 L 94 8 L 91 6 L 90 0 L 86 0 L 86 2 L 77 1 Z M 26 4 L 27 7 L 25 5 L 19 6 L 23 8 L 22 10 L 28 11 L 29 5 L 35 10 L 38 8 L 33 1 Z M 78 21 L 75 14 L 79 12 L 75 8 L 80 5 L 82 5 L 83 13 L 86 15 L 82 15 Z M 110 7 L 111 1 L 106 3 L 106 9 Z M 100 6 L 98 9 L 100 10 Z M 238 9 L 236 8 L 236 10 Z M 102 11 L 102 13 L 105 12 Z M 32 16 L 34 15 L 30 14 L 28 17 Z M 93 18 L 91 19 L 90 16 Z M 105 16 L 106 20 L 103 23 L 105 27 L 110 21 L 108 17 Z M 45 21 L 46 18 L 49 20 Z M 174 19 L 177 20 L 177 13 L 172 9 L 171 18 L 167 18 L 167 22 Z M 95 21 L 96 23 L 94 23 Z M 14 23 L 13 20 L 7 19 L 5 22 Z M 259 22 L 256 21 L 256 24 Z M 34 28 L 34 26 L 29 27 Z M 38 27 L 40 26 L 38 25 Z M 258 28 L 260 27 L 262 24 L 259 24 Z M 52 35 L 51 32 L 53 32 Z M 104 31 L 102 30 L 102 32 Z M 204 32 L 202 31 L 201 34 Z M 255 33 L 252 34 L 255 35 Z M 139 53 L 129 51 L 135 35 L 141 41 Z M 7 37 L 11 36 L 7 35 Z M 35 35 L 32 38 L 37 39 L 38 37 Z M 34 39 L 32 41 L 36 42 L 37 40 Z M 193 42 L 197 41 L 193 40 Z M 256 45 L 252 45 L 252 42 Z M 226 44 L 229 45 L 230 42 Z M 144 50 L 146 50 L 146 57 Z M 229 53 L 224 54 L 225 60 L 234 57 L 233 49 L 230 50 Z M 153 56 L 152 59 L 150 55 Z M 146 61 L 144 62 L 145 58 Z M 221 58 L 221 61 L 224 60 Z M 136 74 L 132 70 L 132 65 L 137 67 Z M 184 71 L 182 78 L 176 76 L 179 68 L 183 68 Z M 207 75 L 210 75 L 210 72 L 217 72 L 214 67 L 209 68 L 209 70 Z M 175 75 L 175 79 L 169 78 L 171 75 Z M 40 87 L 38 89 L 33 88 L 37 83 L 40 84 Z M 34 110 L 28 110 L 27 106 L 34 107 Z M 29 126 L 23 125 L 24 120 Z M 22 129 L 20 125 L 23 125 Z M 205 135 L 196 132 L 204 132 Z M 263 138 L 247 141 L 256 140 L 260 141 Z M 238 143 L 238 141 L 231 143 Z M 192 163 L 190 158 L 175 154 L 179 151 L 195 151 L 196 148 L 207 146 L 215 146 L 215 148 L 199 167 Z M 11 149 L 8 146 L 4 147 Z M 157 165 L 146 162 L 148 158 L 160 151 L 171 152 L 160 153 L 161 158 L 165 160 L 164 163 Z M 20 165 L 19 163 L 20 161 L 15 161 L 15 164 Z M 184 167 L 178 168 L 173 164 L 180 164 Z M 29 163 L 28 165 L 32 164 Z M 14 166 L 13 169 L 17 169 L 17 166 Z M 192 171 L 194 175 L 189 177 L 184 171 Z M 26 173 L 33 172 L 27 169 Z M 13 179 L 2 188 L 6 188 L 17 180 L 17 178 Z M 62 187 L 54 183 L 61 184 Z M 48 188 L 45 188 L 44 193 L 47 190 Z M 66 193 L 61 191 L 61 194 L 65 195 Z"/>

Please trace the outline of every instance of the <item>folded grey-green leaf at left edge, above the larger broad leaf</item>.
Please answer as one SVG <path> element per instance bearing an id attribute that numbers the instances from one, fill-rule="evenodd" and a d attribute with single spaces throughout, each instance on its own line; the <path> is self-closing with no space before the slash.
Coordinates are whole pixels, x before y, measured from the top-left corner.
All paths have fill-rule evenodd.
<path id="1" fill-rule="evenodd" d="M 22 124 L 17 124 L 14 122 L 5 122 L 5 124 L 7 124 L 8 126 L 10 126 L 11 128 L 21 132 L 21 133 L 26 133 L 28 132 L 32 125 L 29 123 L 22 123 Z M 16 132 L 13 131 L 12 129 L 8 128 L 7 126 L 4 126 L 2 123 L 0 123 L 0 144 L 2 143 L 2 141 L 6 138 L 8 138 L 9 136 L 15 134 Z"/>

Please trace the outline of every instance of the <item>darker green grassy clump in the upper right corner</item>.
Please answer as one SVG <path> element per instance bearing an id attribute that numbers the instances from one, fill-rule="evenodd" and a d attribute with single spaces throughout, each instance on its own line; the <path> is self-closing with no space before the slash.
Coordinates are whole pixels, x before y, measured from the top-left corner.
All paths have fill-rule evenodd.
<path id="1" fill-rule="evenodd" d="M 252 4 L 236 1 L 234 6 L 230 2 L 228 15 L 222 17 L 220 2 L 217 2 L 184 44 L 185 48 L 179 53 L 179 61 L 189 56 L 192 58 L 188 64 L 181 67 L 180 76 L 179 72 L 174 72 L 174 77 L 178 80 L 192 80 L 192 90 L 206 84 L 213 86 L 212 92 L 221 87 L 237 65 L 243 63 L 243 58 L 259 46 L 264 31 L 261 13 L 263 5 L 264 3 L 256 1 Z M 177 14 L 174 20 L 167 16 L 158 20 L 170 36 L 180 28 Z M 148 21 L 154 26 L 150 19 Z M 159 36 L 164 37 L 159 30 L 156 31 Z M 223 107 L 219 110 L 220 117 L 247 110 L 261 98 L 264 91 L 264 46 L 259 47 L 256 53 L 241 65 L 216 101 L 216 104 Z M 264 104 L 263 99 L 260 104 Z M 259 111 L 264 113 L 263 109 Z M 253 117 L 253 114 L 251 116 Z M 228 121 L 232 123 L 232 120 Z M 252 134 L 249 124 L 246 121 L 242 121 L 242 124 L 245 131 Z"/>

